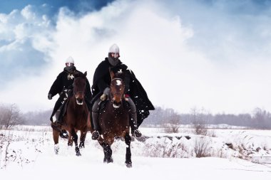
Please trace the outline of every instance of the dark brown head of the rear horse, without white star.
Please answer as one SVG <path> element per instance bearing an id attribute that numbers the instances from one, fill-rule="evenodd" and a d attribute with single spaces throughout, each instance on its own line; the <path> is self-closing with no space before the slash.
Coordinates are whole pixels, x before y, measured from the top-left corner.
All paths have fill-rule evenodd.
<path id="1" fill-rule="evenodd" d="M 86 90 L 86 72 L 76 73 L 73 80 L 73 95 L 76 97 L 76 103 L 83 105 Z"/>

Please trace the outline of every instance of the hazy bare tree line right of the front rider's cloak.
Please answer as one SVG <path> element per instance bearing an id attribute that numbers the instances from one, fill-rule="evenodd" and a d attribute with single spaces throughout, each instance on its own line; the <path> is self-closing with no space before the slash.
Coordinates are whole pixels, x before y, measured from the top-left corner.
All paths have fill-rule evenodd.
<path id="1" fill-rule="evenodd" d="M 144 120 L 143 125 L 190 125 L 201 122 L 208 125 L 232 125 L 251 127 L 256 129 L 271 129 L 271 113 L 261 108 L 255 108 L 252 113 L 239 115 L 216 114 L 213 115 L 204 109 L 191 109 L 190 113 L 180 114 L 171 108 L 155 107 L 150 116 Z"/>

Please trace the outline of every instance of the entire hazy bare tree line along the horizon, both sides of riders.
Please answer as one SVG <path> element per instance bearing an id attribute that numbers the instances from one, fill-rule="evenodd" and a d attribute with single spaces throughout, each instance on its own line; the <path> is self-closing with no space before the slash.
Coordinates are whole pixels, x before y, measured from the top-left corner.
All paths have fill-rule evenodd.
<path id="1" fill-rule="evenodd" d="M 15 104 L 0 104 L 0 129 L 11 129 L 15 125 L 50 125 L 49 117 L 52 110 L 21 113 Z M 195 123 L 251 127 L 257 129 L 271 129 L 271 113 L 261 108 L 255 108 L 252 114 L 239 115 L 216 114 L 213 115 L 204 109 L 191 109 L 190 113 L 180 114 L 171 108 L 155 107 L 150 112 L 142 126 L 158 125 L 190 125 Z"/>

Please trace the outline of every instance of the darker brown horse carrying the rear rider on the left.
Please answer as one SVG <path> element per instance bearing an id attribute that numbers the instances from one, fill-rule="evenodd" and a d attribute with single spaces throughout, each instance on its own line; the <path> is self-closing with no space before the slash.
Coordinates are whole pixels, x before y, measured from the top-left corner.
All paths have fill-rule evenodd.
<path id="1" fill-rule="evenodd" d="M 68 146 L 76 145 L 76 156 L 81 156 L 79 147 L 85 147 L 86 132 L 88 130 L 88 107 L 84 100 L 86 89 L 86 73 L 76 73 L 73 81 L 73 95 L 68 97 L 66 115 L 63 116 L 62 128 L 68 131 Z M 80 144 L 78 147 L 78 136 L 80 130 Z M 59 132 L 53 129 L 53 141 L 55 152 L 58 154 Z"/>

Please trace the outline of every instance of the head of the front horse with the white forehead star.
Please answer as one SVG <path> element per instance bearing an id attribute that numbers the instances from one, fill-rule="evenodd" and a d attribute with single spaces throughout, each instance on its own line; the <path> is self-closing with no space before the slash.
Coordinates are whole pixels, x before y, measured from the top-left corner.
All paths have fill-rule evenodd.
<path id="1" fill-rule="evenodd" d="M 122 71 L 114 73 L 113 70 L 111 70 L 110 75 L 111 75 L 111 85 L 110 85 L 111 101 L 113 102 L 113 107 L 118 108 L 121 107 L 121 102 L 124 98 L 125 73 Z"/>

